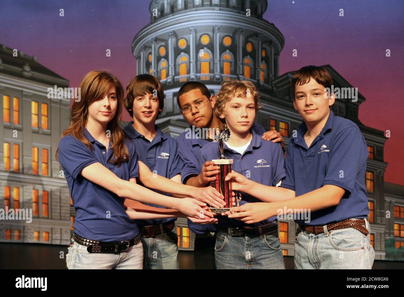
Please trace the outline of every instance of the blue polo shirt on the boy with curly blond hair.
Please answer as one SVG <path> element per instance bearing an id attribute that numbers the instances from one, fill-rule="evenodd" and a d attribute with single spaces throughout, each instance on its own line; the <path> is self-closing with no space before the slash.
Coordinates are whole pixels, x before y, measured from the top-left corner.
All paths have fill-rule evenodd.
<path id="1" fill-rule="evenodd" d="M 280 143 L 273 143 L 272 141 L 262 139 L 261 135 L 257 135 L 252 129 L 250 129 L 250 132 L 252 134 L 251 143 L 242 155 L 227 147 L 226 143 L 223 143 L 223 154 L 227 159 L 233 159 L 232 170 L 257 183 L 276 186 L 280 179 L 286 176 L 282 147 Z M 208 143 L 201 149 L 199 164 L 202 166 L 204 162 L 219 159 L 219 157 L 219 143 Z M 240 205 L 251 202 L 262 202 L 262 200 L 254 196 L 246 193 L 241 194 L 242 200 L 240 201 Z M 217 216 L 217 218 L 220 227 L 251 227 L 276 221 L 276 216 L 254 224 L 246 224 L 234 218 L 230 219 L 227 216 Z"/>

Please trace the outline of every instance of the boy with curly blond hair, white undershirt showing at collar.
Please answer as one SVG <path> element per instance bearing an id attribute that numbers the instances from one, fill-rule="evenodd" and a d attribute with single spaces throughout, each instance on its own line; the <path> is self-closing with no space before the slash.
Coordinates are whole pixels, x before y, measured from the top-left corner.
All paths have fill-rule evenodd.
<path id="1" fill-rule="evenodd" d="M 259 108 L 259 93 L 247 80 L 222 83 L 216 95 L 215 112 L 230 130 L 223 154 L 233 159 L 231 168 L 264 185 L 276 185 L 285 177 L 284 154 L 279 143 L 265 141 L 250 129 Z M 200 150 L 199 164 L 219 159 L 219 143 Z M 240 204 L 259 200 L 242 193 Z M 246 224 L 218 216 L 215 264 L 217 269 L 284 269 L 276 216 Z"/>

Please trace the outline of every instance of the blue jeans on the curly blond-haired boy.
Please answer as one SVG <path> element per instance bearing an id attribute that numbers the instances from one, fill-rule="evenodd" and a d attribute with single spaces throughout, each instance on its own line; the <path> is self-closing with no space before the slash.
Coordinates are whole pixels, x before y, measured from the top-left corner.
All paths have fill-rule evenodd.
<path id="1" fill-rule="evenodd" d="M 229 234 L 217 232 L 216 269 L 285 269 L 278 229 L 259 236 Z"/>

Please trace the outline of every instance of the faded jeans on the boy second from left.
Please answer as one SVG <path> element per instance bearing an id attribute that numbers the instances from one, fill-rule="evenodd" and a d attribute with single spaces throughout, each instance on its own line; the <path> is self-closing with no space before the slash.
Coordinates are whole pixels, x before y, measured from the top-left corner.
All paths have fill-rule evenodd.
<path id="1" fill-rule="evenodd" d="M 177 228 L 156 237 L 141 238 L 143 269 L 179 269 Z"/>

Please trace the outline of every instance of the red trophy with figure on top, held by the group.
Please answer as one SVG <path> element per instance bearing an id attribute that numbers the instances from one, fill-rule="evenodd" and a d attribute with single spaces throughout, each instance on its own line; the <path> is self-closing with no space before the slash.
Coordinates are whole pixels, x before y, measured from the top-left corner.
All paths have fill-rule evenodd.
<path id="1" fill-rule="evenodd" d="M 220 158 L 212 161 L 215 162 L 215 165 L 219 166 L 219 173 L 216 174 L 216 179 L 211 185 L 224 196 L 226 205 L 223 208 L 216 208 L 213 206 L 208 206 L 208 208 L 212 213 L 225 213 L 233 206 L 231 179 L 229 181 L 225 181 L 227 174 L 231 172 L 231 164 L 233 164 L 233 159 L 226 159 L 223 154 L 223 142 L 229 140 L 230 131 L 228 128 L 226 128 L 224 131 L 219 133 L 219 127 L 216 128 L 216 131 L 215 140 L 219 142 Z"/>

